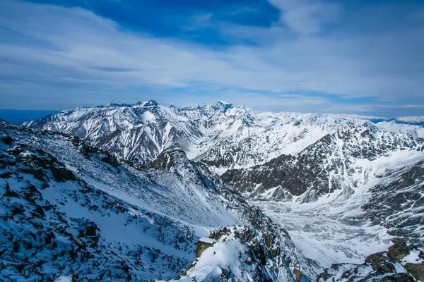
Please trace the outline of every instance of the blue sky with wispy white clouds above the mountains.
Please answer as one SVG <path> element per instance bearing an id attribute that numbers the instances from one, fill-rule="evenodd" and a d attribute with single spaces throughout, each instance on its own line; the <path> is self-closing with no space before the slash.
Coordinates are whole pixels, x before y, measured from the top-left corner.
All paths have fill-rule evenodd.
<path id="1" fill-rule="evenodd" d="M 1 109 L 424 115 L 424 1 L 0 1 Z"/>

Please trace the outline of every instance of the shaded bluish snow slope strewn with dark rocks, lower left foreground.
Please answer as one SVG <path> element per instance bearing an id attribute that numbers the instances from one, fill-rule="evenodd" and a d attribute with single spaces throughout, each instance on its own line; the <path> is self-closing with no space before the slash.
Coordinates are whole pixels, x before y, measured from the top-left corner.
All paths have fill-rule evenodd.
<path id="1" fill-rule="evenodd" d="M 41 149 L 0 146 L 2 281 L 148 281 L 189 263 L 188 226 L 93 188 Z"/>

